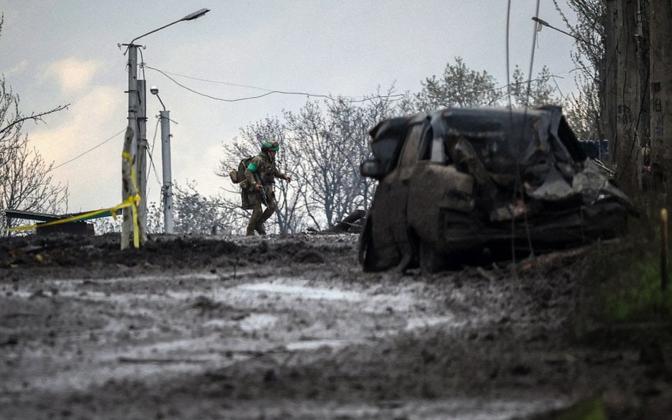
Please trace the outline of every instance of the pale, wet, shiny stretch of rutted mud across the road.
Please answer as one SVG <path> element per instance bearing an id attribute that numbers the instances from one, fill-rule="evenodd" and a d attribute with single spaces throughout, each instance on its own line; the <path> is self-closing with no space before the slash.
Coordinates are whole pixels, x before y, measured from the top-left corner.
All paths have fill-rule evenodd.
<path id="1" fill-rule="evenodd" d="M 222 368 L 269 353 L 371 344 L 399 331 L 454 322 L 448 316 L 409 316 L 418 301 L 408 291 L 389 295 L 345 290 L 287 277 L 240 280 L 258 278 L 258 273 L 239 273 L 239 284 L 218 285 L 221 277 L 47 280 L 43 288 L 58 290 L 51 296 L 16 290 L 14 299 L 26 300 L 34 308 L 62 307 L 62 302 L 72 300 L 80 306 L 77 313 L 62 317 L 97 313 L 103 319 L 103 325 L 93 330 L 55 333 L 55 346 L 62 346 L 57 357 L 49 348 L 23 351 L 17 358 L 24 365 L 21 371 L 40 365 L 40 372 L 28 375 L 32 377 L 28 388 L 86 390 L 109 380 L 152 380 L 157 375 Z M 185 291 L 185 281 L 208 283 L 208 290 Z M 186 310 L 190 316 L 180 319 L 171 308 Z M 40 316 L 35 318 L 41 321 Z M 88 356 L 67 363 L 78 353 Z M 52 369 L 43 369 L 45 361 Z M 5 381 L 3 388 L 26 392 L 26 382 Z"/>

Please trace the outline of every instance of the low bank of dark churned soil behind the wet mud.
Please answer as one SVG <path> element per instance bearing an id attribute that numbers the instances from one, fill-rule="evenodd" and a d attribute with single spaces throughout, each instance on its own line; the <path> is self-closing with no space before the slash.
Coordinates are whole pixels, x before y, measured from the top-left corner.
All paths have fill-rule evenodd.
<path id="1" fill-rule="evenodd" d="M 120 271 L 149 273 L 208 270 L 249 264 L 323 262 L 352 252 L 356 235 L 287 237 L 200 237 L 152 235 L 140 249 L 121 250 L 118 234 L 96 237 L 56 234 L 0 241 L 0 268 L 21 268 L 18 276 L 117 276 Z M 54 270 L 54 268 L 58 268 Z"/>

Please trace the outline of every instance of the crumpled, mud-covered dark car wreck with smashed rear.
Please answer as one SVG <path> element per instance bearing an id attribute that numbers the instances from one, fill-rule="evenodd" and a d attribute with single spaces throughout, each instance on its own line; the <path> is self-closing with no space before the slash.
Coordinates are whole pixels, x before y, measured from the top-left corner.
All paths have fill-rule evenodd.
<path id="1" fill-rule="evenodd" d="M 369 132 L 365 271 L 434 272 L 611 239 L 634 214 L 561 108 L 448 108 Z"/>

